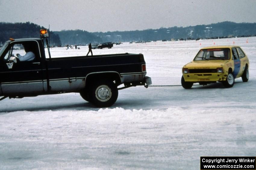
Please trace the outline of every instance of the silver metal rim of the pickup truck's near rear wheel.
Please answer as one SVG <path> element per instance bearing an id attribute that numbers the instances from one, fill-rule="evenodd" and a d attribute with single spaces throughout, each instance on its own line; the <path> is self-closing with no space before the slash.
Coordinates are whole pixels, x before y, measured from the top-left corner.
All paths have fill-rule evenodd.
<path id="1" fill-rule="evenodd" d="M 100 85 L 95 90 L 95 96 L 99 101 L 106 102 L 111 98 L 112 91 L 107 85 Z"/>

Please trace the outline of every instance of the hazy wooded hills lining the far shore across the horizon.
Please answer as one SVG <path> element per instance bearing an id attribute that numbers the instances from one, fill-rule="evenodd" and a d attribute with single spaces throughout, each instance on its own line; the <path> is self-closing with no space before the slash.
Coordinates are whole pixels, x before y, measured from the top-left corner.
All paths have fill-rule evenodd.
<path id="1" fill-rule="evenodd" d="M 0 22 L 0 45 L 9 38 L 39 37 L 37 24 Z M 88 43 L 129 42 L 170 39 L 197 39 L 233 36 L 255 36 L 256 23 L 219 22 L 209 25 L 169 27 L 135 31 L 88 32 L 84 30 L 50 31 L 51 46 L 86 45 Z"/>

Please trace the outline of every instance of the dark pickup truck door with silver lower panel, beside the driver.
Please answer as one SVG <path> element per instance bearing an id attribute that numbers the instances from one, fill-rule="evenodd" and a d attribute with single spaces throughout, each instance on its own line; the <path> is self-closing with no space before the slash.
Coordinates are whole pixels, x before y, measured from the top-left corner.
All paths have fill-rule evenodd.
<path id="1" fill-rule="evenodd" d="M 18 58 L 16 62 L 10 61 L 11 56 L 16 56 L 17 53 L 21 56 L 26 54 L 24 43 L 30 44 L 35 58 L 30 61 L 20 61 Z M 4 96 L 19 96 L 43 91 L 42 65 L 39 44 L 36 40 L 10 43 L 0 58 L 0 81 Z"/>

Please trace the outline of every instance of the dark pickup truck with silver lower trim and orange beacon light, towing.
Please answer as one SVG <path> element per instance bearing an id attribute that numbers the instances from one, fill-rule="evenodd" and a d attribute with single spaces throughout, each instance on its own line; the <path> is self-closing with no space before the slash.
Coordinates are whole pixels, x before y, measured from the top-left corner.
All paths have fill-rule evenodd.
<path id="1" fill-rule="evenodd" d="M 0 100 L 76 92 L 97 107 L 109 107 L 116 102 L 118 90 L 151 84 L 142 54 L 52 58 L 47 37 L 45 30 L 41 38 L 5 42 L 0 49 Z M 45 56 L 45 42 L 49 57 Z M 31 61 L 14 56 L 26 54 L 22 53 L 24 44 L 33 47 L 35 58 Z"/>

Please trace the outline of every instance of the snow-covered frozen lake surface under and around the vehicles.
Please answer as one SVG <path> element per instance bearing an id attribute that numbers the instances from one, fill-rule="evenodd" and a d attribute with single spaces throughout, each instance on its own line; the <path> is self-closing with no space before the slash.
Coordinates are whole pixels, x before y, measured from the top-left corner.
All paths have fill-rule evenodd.
<path id="1" fill-rule="evenodd" d="M 77 93 L 2 100 L 0 169 L 193 170 L 201 156 L 255 156 L 256 37 L 123 43 L 93 54 L 142 53 L 153 85 L 180 85 L 182 66 L 214 43 L 242 47 L 250 60 L 248 82 L 132 87 L 106 109 Z M 51 53 L 88 52 L 80 48 Z"/>

